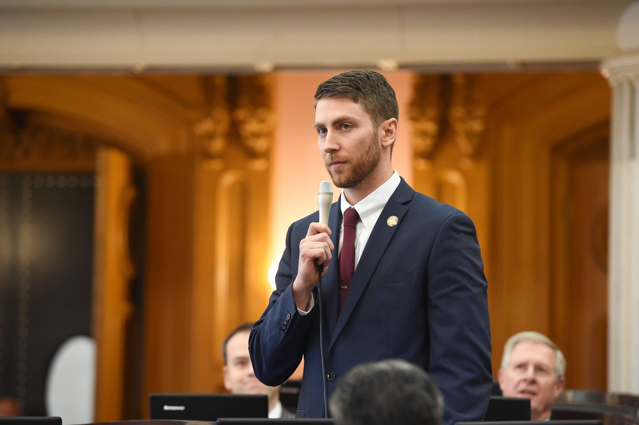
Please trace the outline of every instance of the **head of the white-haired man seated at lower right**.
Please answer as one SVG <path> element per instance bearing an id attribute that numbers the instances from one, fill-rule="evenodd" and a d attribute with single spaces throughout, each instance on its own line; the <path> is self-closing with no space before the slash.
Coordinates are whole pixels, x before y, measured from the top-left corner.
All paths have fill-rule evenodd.
<path id="1" fill-rule="evenodd" d="M 499 386 L 505 397 L 530 399 L 530 419 L 550 419 L 553 402 L 566 385 L 566 359 L 550 338 L 520 332 L 504 347 Z"/>

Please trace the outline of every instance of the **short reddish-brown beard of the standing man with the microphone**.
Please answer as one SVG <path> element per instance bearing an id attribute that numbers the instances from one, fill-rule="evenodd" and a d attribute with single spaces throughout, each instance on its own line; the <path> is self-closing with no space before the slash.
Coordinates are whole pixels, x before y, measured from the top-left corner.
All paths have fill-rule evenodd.
<path id="1" fill-rule="evenodd" d="M 333 184 L 338 188 L 354 188 L 360 184 L 369 174 L 377 167 L 381 160 L 381 147 L 377 135 L 374 133 L 366 152 L 362 153 L 358 158 L 348 161 L 350 170 L 342 170 L 340 167 L 333 169 L 330 167 L 332 161 L 344 161 L 344 159 L 335 157 L 332 154 L 324 161 L 324 165 L 333 180 Z"/>

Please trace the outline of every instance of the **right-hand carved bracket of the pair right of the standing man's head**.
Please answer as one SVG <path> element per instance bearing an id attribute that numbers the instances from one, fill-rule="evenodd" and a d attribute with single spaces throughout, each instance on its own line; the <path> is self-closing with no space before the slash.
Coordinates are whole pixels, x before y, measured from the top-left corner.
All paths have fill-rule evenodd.
<path id="1" fill-rule="evenodd" d="M 456 74 L 452 77 L 449 121 L 455 141 L 464 156 L 477 155 L 486 128 L 488 108 L 477 93 L 474 80 L 473 75 Z"/>

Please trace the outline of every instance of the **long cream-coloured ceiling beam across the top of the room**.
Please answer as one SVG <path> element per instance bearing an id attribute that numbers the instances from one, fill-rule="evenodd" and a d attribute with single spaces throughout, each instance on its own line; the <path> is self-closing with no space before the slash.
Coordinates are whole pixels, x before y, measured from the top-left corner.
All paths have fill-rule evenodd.
<path id="1" fill-rule="evenodd" d="M 639 47 L 631 3 L 0 0 L 0 71 L 596 69 Z"/>

